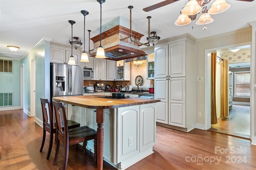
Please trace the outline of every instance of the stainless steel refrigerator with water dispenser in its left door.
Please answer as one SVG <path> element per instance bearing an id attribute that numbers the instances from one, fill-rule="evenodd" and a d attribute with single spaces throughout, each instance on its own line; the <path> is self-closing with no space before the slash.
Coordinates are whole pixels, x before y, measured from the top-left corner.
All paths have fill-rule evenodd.
<path id="1" fill-rule="evenodd" d="M 50 63 L 50 92 L 54 96 L 82 95 L 83 78 L 80 66 Z"/>

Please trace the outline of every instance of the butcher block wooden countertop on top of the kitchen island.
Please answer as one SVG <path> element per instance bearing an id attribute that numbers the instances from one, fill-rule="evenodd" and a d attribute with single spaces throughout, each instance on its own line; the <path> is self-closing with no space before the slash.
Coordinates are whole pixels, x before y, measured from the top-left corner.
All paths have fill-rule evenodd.
<path id="1" fill-rule="evenodd" d="M 52 100 L 72 104 L 75 106 L 81 106 L 93 109 L 112 109 L 117 107 L 126 107 L 142 104 L 150 104 L 160 102 L 155 99 L 144 99 L 144 98 L 125 98 L 125 99 L 108 99 L 98 98 L 104 95 L 93 95 L 93 96 L 58 96 L 53 97 Z"/>

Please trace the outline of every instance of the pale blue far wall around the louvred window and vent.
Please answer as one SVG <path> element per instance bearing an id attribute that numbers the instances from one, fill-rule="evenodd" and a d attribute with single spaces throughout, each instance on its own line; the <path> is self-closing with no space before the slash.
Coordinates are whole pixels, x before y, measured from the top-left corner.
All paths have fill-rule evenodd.
<path id="1" fill-rule="evenodd" d="M 0 57 L 5 60 L 12 60 L 13 72 L 0 73 L 0 92 L 13 93 L 13 107 L 20 106 L 20 61 L 11 58 Z"/>

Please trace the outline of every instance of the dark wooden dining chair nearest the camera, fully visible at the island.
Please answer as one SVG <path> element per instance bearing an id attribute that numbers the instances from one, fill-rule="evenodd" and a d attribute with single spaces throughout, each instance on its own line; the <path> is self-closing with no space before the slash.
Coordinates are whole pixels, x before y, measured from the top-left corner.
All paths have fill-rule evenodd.
<path id="1" fill-rule="evenodd" d="M 82 127 L 76 127 L 73 129 L 68 129 L 67 127 L 67 121 L 66 121 L 66 113 L 64 109 L 64 105 L 62 102 L 55 102 L 52 100 L 53 106 L 54 106 L 54 113 L 56 117 L 56 152 L 55 157 L 53 161 L 53 165 L 56 164 L 57 158 L 58 158 L 58 152 L 60 149 L 60 142 L 64 144 L 64 165 L 63 169 L 66 170 L 67 164 L 68 164 L 68 152 L 69 152 L 69 146 L 78 144 L 78 143 L 84 143 L 84 153 L 86 150 L 86 141 L 94 139 L 94 161 L 95 164 L 97 162 L 97 131 L 94 129 L 91 129 L 87 126 Z M 61 127 L 61 122 L 64 122 L 64 127 Z"/>

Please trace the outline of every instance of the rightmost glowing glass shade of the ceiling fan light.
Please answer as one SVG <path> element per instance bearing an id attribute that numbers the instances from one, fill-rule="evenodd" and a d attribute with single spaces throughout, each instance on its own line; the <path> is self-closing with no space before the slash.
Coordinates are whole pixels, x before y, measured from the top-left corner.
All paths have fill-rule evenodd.
<path id="1" fill-rule="evenodd" d="M 215 0 L 212 3 L 211 8 L 208 10 L 209 14 L 220 14 L 230 8 L 230 4 L 228 4 L 225 0 Z"/>

